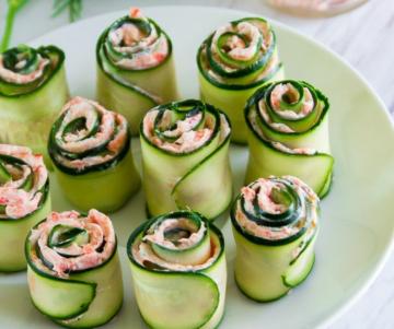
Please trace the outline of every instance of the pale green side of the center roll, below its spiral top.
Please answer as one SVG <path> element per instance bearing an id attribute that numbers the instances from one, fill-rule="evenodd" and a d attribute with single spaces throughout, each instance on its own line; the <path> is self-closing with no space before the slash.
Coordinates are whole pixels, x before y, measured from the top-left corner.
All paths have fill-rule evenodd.
<path id="1" fill-rule="evenodd" d="M 150 144 L 142 136 L 140 137 L 140 140 L 143 173 L 142 185 L 150 214 L 154 216 L 178 210 L 178 205 L 188 205 L 208 219 L 213 220 L 228 208 L 232 197 L 232 184 L 229 183 L 231 181 L 231 175 L 228 167 L 229 160 L 228 155 L 225 155 L 225 153 L 228 153 L 229 141 L 224 141 L 223 144 L 218 146 L 218 134 L 206 146 L 193 153 L 182 155 L 165 153 Z M 221 157 L 224 155 L 224 157 L 221 157 L 221 161 L 219 161 L 217 169 L 211 168 L 209 171 L 210 175 L 205 177 L 206 181 L 198 181 L 197 185 L 200 186 L 201 189 L 195 191 L 196 183 L 194 181 L 194 189 L 187 189 L 187 186 L 185 185 L 181 186 L 179 190 L 187 191 L 187 195 L 181 196 L 181 193 L 176 192 L 176 185 L 182 181 L 179 179 L 183 179 L 183 177 L 186 177 L 187 179 L 187 175 L 193 176 L 193 171 L 195 171 L 195 174 L 197 175 L 199 169 L 204 169 L 207 166 L 210 167 L 210 161 L 215 161 L 212 157 L 209 158 L 210 155 L 212 155 L 212 157 Z M 207 163 L 202 163 L 199 167 L 198 165 L 205 160 L 207 160 Z M 163 173 L 165 173 L 165 175 L 163 175 Z M 217 201 L 211 209 L 207 209 L 204 202 L 197 200 L 193 195 L 202 195 L 205 196 L 205 200 L 213 200 L 217 198 L 218 193 L 216 189 L 212 189 L 211 187 L 211 175 L 216 175 L 215 179 L 223 177 L 228 179 L 228 181 L 220 185 L 222 187 L 220 202 Z M 192 185 L 192 181 L 189 180 L 186 180 L 186 183 L 188 183 L 188 186 Z M 158 196 L 160 196 L 160 198 L 158 198 Z M 208 196 L 211 197 L 209 198 Z M 196 204 L 185 204 L 185 201 L 189 202 L 194 198 L 196 199 Z M 195 205 L 198 205 L 198 209 L 196 209 Z"/>

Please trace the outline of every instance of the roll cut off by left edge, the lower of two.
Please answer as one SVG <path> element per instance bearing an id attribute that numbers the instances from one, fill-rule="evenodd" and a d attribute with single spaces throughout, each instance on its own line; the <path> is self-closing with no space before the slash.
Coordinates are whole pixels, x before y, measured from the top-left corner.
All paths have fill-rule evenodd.
<path id="1" fill-rule="evenodd" d="M 0 272 L 26 268 L 26 235 L 49 212 L 49 179 L 43 156 L 25 146 L 0 144 Z"/>

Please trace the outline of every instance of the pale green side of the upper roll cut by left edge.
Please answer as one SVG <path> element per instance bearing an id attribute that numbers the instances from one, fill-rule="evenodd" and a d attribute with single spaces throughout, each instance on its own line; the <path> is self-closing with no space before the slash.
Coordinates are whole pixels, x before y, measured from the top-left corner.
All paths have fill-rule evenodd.
<path id="1" fill-rule="evenodd" d="M 33 93 L 18 97 L 0 95 L 1 143 L 31 148 L 35 154 L 44 155 L 49 168 L 47 138 L 55 118 L 69 98 L 63 63 L 50 79 Z"/>

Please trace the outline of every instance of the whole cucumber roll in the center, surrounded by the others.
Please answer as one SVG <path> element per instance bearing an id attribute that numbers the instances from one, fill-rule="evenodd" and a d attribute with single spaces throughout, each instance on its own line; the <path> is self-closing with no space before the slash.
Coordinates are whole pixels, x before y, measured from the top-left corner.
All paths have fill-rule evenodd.
<path id="1" fill-rule="evenodd" d="M 212 220 L 230 204 L 231 127 L 227 116 L 200 101 L 152 108 L 140 128 L 148 212 L 193 209 Z"/>

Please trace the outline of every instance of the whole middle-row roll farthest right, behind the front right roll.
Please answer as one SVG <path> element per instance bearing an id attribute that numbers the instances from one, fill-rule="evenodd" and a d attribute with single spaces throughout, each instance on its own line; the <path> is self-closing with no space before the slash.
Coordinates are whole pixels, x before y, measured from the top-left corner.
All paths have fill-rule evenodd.
<path id="1" fill-rule="evenodd" d="M 250 158 L 246 184 L 270 175 L 293 175 L 321 198 L 329 190 L 326 96 L 303 81 L 280 81 L 258 90 L 247 102 Z"/>

